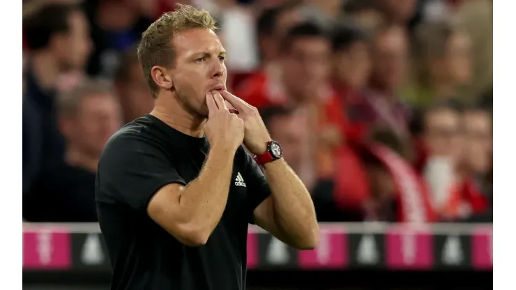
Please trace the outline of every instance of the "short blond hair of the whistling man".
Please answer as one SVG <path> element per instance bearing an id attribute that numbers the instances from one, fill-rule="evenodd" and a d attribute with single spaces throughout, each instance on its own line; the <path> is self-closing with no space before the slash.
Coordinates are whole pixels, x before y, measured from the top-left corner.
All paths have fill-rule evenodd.
<path id="1" fill-rule="evenodd" d="M 171 66 L 174 63 L 172 38 L 177 33 L 196 28 L 213 31 L 217 29 L 215 20 L 206 10 L 177 4 L 176 10 L 163 13 L 142 34 L 142 41 L 138 46 L 138 59 L 154 97 L 158 93 L 158 86 L 152 79 L 151 69 L 153 66 Z"/>

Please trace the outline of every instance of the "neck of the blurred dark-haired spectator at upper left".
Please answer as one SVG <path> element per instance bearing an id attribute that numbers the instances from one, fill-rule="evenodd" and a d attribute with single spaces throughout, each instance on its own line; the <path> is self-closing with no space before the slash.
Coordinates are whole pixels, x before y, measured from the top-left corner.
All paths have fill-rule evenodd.
<path id="1" fill-rule="evenodd" d="M 50 52 L 35 52 L 31 56 L 31 70 L 43 89 L 53 89 L 59 77 L 59 65 Z"/>

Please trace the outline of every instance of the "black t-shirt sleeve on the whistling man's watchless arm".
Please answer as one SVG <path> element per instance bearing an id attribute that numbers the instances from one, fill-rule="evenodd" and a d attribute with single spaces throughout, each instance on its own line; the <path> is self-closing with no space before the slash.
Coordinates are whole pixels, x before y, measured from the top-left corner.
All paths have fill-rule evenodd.
<path id="1" fill-rule="evenodd" d="M 100 158 L 97 201 L 117 201 L 146 213 L 153 195 L 171 183 L 185 185 L 164 148 L 144 137 L 119 135 L 108 142 Z"/>

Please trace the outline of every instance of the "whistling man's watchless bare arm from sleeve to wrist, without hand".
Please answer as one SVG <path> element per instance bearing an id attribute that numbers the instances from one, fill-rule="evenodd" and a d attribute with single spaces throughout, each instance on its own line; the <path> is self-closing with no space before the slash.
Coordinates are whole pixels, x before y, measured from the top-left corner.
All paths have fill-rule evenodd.
<path id="1" fill-rule="evenodd" d="M 158 190 L 147 212 L 181 243 L 204 245 L 224 212 L 233 169 L 234 153 L 211 148 L 194 181 L 174 183 Z"/>

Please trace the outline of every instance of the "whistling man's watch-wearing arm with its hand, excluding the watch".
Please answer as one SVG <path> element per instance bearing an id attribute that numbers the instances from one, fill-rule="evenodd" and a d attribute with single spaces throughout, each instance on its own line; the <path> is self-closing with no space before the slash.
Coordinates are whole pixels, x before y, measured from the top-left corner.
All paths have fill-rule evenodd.
<path id="1" fill-rule="evenodd" d="M 257 108 L 227 91 L 220 91 L 220 94 L 238 110 L 238 117 L 245 123 L 245 147 L 253 154 L 264 153 L 271 137 Z M 248 171 L 251 178 L 264 179 L 254 160 L 248 165 L 252 166 Z M 282 159 L 268 162 L 264 169 L 266 181 L 256 190 L 262 191 L 257 192 L 261 195 L 270 188 L 271 196 L 253 209 L 256 224 L 291 247 L 307 250 L 317 247 L 319 226 L 305 185 Z"/>

